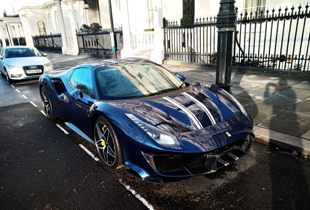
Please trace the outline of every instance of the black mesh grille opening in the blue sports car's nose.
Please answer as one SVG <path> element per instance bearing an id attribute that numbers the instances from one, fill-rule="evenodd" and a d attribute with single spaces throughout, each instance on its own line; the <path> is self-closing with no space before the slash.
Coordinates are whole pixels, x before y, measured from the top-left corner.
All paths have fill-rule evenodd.
<path id="1" fill-rule="evenodd" d="M 206 162 L 206 157 L 206 154 L 155 155 L 153 160 L 157 172 L 170 173 L 186 171 L 185 168 L 202 167 Z"/>

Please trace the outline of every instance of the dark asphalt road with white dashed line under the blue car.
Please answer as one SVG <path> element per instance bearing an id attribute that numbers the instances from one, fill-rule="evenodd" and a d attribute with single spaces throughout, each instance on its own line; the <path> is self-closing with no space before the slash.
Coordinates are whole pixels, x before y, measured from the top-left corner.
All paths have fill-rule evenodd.
<path id="1" fill-rule="evenodd" d="M 49 121 L 37 80 L 0 78 L 0 97 L 1 210 L 310 209 L 310 160 L 292 151 L 255 142 L 214 174 L 152 184 L 107 169 L 95 146 Z"/>

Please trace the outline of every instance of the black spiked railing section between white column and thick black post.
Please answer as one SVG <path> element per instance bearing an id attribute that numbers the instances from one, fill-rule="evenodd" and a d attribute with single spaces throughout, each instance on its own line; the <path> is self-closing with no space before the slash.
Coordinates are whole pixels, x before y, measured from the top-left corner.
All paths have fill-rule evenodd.
<path id="1" fill-rule="evenodd" d="M 165 60 L 214 64 L 217 34 L 214 18 L 196 19 L 194 25 L 168 22 L 164 28 Z"/>

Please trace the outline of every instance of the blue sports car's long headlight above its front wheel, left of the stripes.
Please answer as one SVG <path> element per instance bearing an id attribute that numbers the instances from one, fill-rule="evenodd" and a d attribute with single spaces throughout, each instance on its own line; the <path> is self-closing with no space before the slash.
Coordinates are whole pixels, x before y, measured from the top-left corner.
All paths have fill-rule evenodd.
<path id="1" fill-rule="evenodd" d="M 148 123 L 144 123 L 132 114 L 125 114 L 130 120 L 132 120 L 139 128 L 141 128 L 145 133 L 147 133 L 152 139 L 157 143 L 166 146 L 180 146 L 180 142 L 174 137 L 166 133 L 159 128 L 154 127 Z"/>

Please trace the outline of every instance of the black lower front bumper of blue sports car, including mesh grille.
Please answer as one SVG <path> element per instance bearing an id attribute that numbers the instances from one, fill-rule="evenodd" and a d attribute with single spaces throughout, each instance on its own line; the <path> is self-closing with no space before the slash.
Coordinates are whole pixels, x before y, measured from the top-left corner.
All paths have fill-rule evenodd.
<path id="1" fill-rule="evenodd" d="M 228 145 L 228 149 L 220 148 L 217 152 L 179 155 L 145 154 L 145 158 L 159 175 L 158 177 L 147 176 L 145 179 L 150 182 L 164 183 L 214 173 L 249 153 L 252 142 L 252 136 L 248 134 Z"/>

